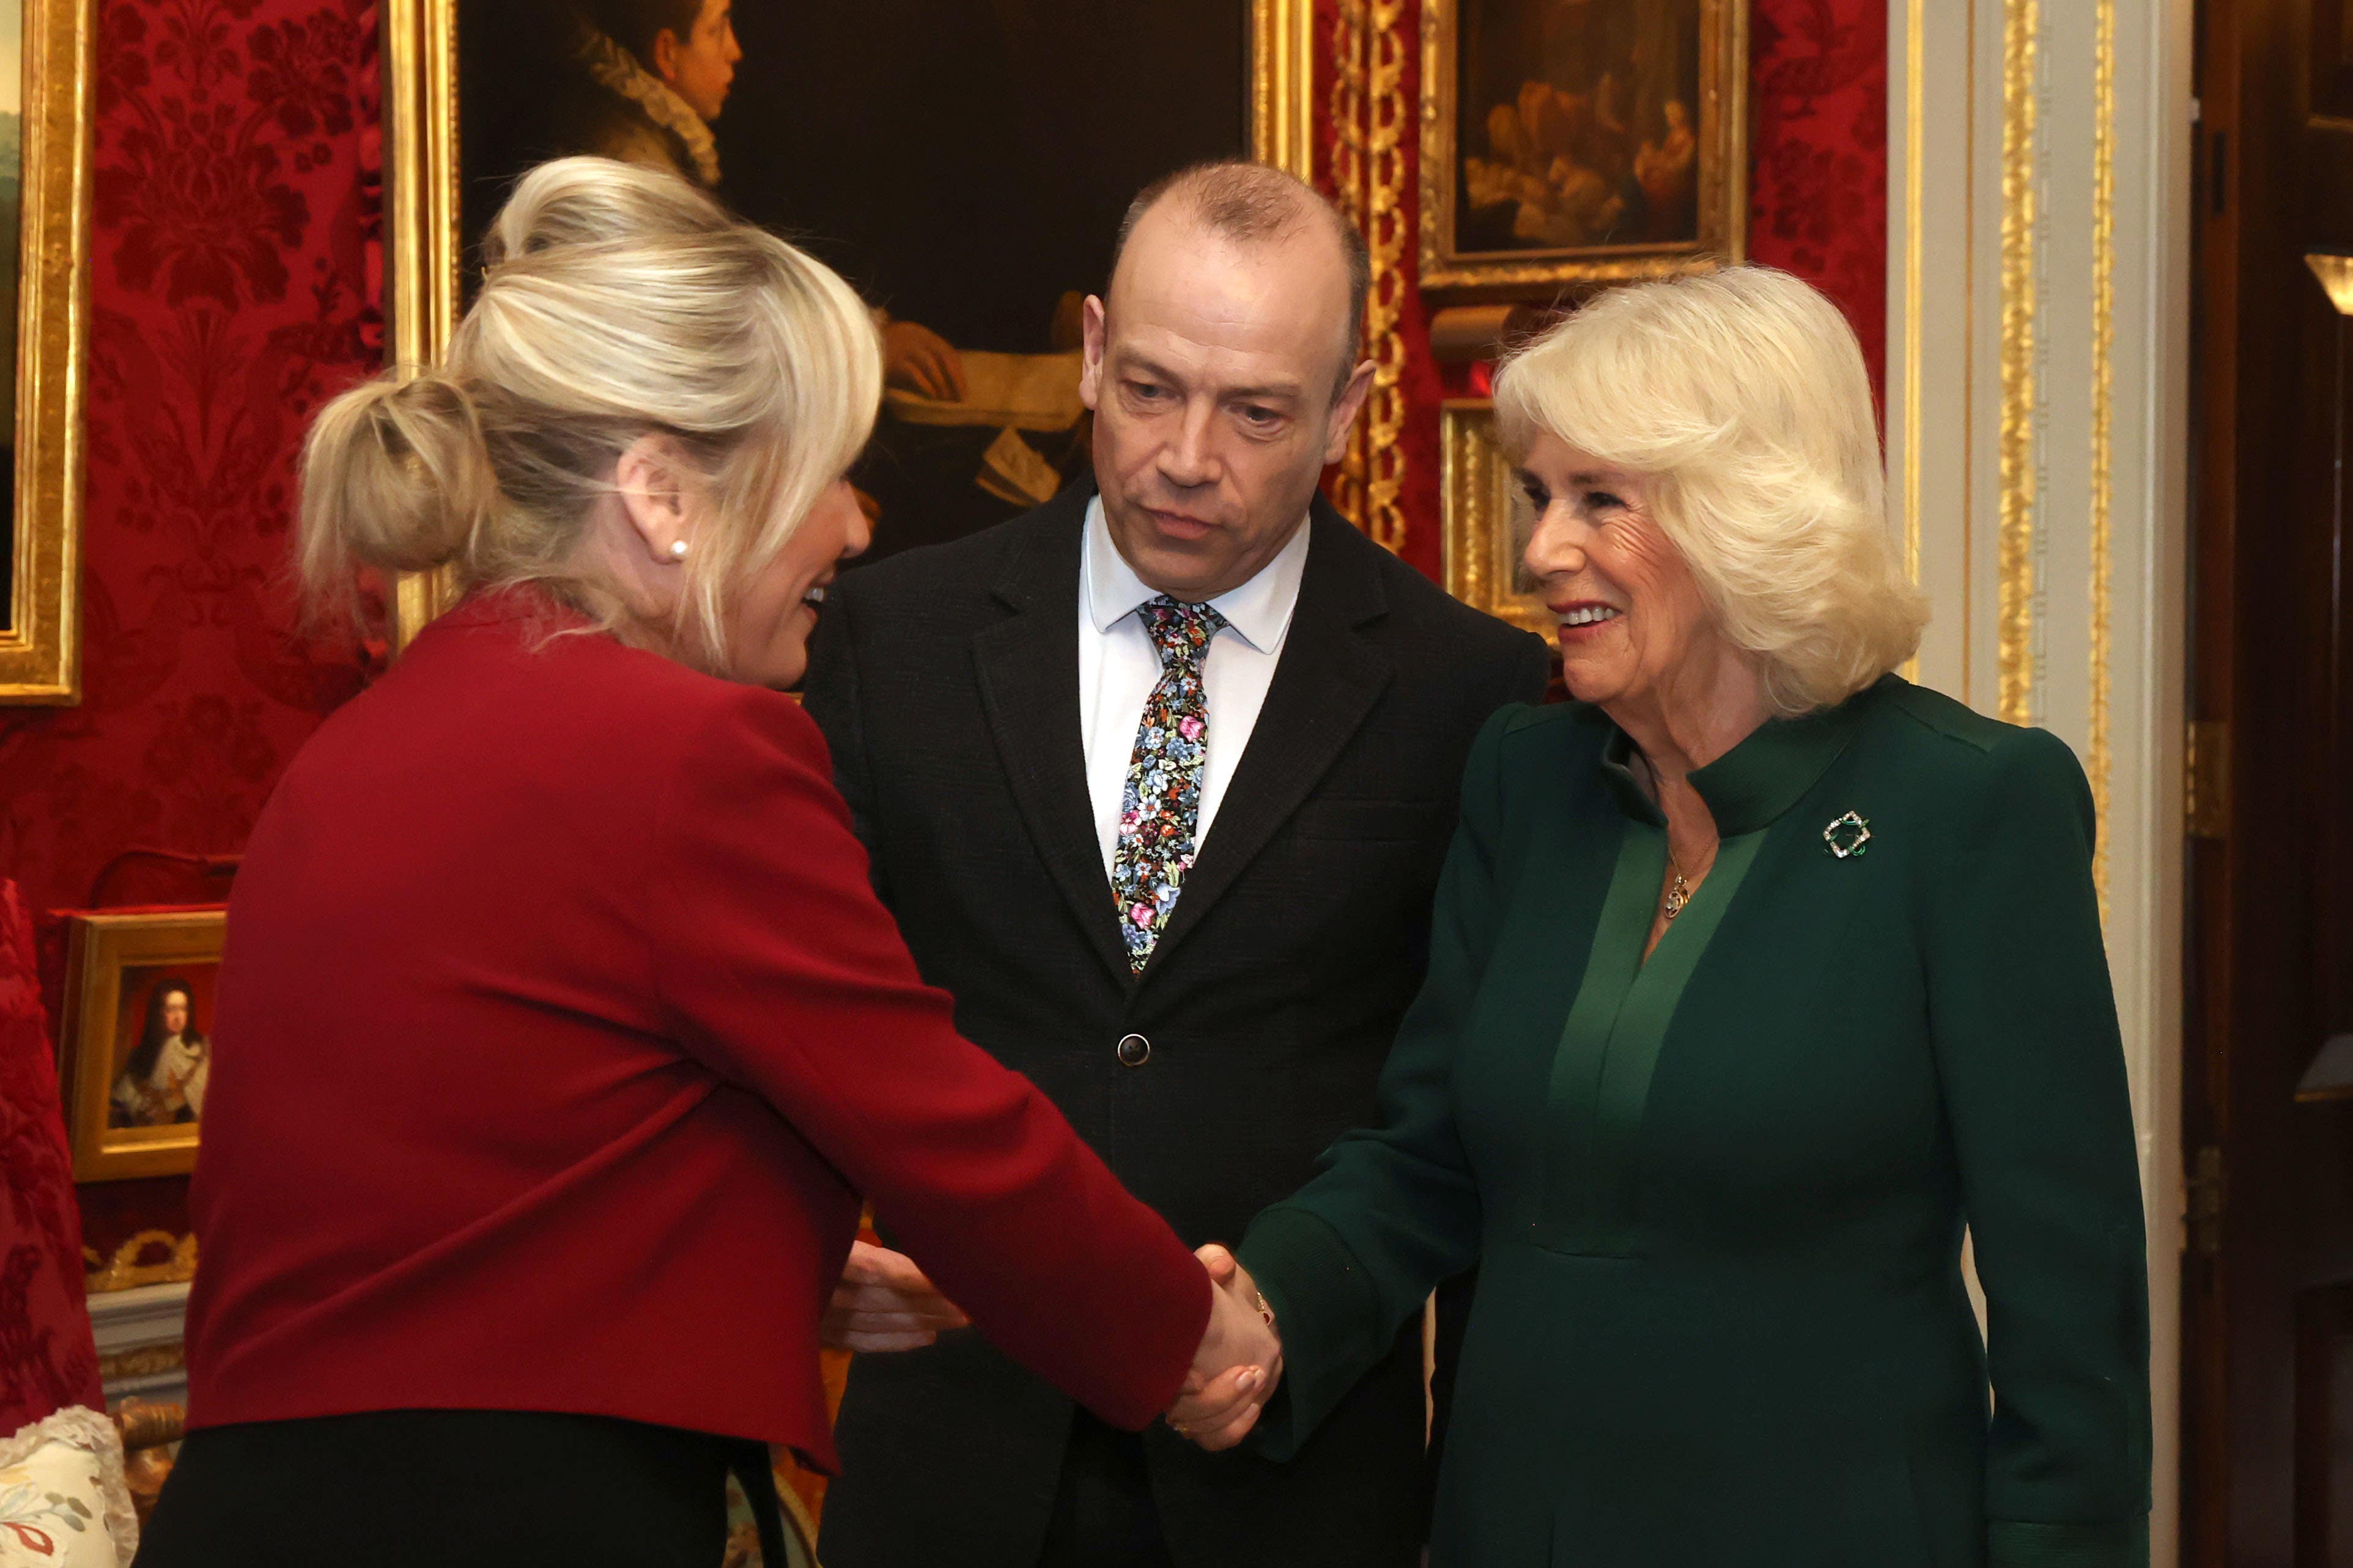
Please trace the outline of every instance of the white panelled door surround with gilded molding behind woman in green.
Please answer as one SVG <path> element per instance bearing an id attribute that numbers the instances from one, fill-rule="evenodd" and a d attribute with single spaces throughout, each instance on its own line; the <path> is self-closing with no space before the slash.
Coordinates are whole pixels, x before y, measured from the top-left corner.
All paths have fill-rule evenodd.
<path id="1" fill-rule="evenodd" d="M 2191 0 L 1889 0 L 1887 458 L 1918 679 L 2101 818 L 2177 1561 Z"/>

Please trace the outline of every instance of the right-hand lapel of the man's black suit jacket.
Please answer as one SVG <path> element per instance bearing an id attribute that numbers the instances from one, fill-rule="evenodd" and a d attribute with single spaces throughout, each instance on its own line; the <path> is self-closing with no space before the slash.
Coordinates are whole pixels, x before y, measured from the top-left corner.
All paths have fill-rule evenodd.
<path id="1" fill-rule="evenodd" d="M 1141 976 L 1146 980 L 1167 966 L 1169 950 L 1184 943 L 1289 820 L 1395 675 L 1388 656 L 1358 632 L 1388 611 L 1377 559 L 1365 555 L 1372 545 L 1322 496 L 1315 496 L 1308 527 L 1315 529 L 1308 569 L 1275 682 L 1249 731 L 1242 764 L 1226 785 L 1226 799 L 1209 820 L 1209 839 L 1184 879 L 1176 910 L 1153 943 Z M 1214 733 L 1217 712 L 1209 724 Z M 1108 907 L 1108 884 L 1104 898 Z"/>

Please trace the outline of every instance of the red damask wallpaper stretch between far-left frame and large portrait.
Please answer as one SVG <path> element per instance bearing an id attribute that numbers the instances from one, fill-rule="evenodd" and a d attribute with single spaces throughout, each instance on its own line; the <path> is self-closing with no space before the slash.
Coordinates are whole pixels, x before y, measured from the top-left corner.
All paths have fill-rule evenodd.
<path id="1" fill-rule="evenodd" d="M 238 851 L 362 679 L 292 635 L 282 571 L 304 416 L 381 353 L 374 33 L 362 0 L 99 7 L 82 705 L 0 708 L 35 910 L 129 846 Z"/>

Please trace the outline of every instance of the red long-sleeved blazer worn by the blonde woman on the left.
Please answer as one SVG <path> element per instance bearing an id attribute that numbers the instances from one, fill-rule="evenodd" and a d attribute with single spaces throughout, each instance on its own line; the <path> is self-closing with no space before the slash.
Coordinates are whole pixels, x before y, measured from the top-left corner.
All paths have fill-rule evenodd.
<path id="1" fill-rule="evenodd" d="M 859 1194 L 1007 1354 L 1148 1422 L 1207 1276 L 915 978 L 816 724 L 553 625 L 461 604 L 254 827 L 191 1425 L 569 1410 L 831 1469 Z"/>

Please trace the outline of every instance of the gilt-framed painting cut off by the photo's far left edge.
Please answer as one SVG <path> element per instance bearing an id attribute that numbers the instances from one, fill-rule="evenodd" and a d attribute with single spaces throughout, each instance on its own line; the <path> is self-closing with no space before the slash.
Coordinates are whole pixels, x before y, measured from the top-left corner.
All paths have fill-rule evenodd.
<path id="1" fill-rule="evenodd" d="M 94 0 L 0 0 L 0 703 L 71 703 Z"/>

